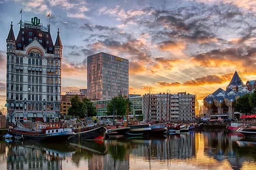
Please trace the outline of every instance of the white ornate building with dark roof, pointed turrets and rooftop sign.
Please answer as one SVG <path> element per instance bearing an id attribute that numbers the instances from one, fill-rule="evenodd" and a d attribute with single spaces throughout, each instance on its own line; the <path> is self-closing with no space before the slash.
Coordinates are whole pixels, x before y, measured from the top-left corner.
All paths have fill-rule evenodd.
<path id="1" fill-rule="evenodd" d="M 37 17 L 20 23 L 15 39 L 11 24 L 7 43 L 6 104 L 9 121 L 52 121 L 61 103 L 62 42 L 55 45 L 50 26 Z"/>

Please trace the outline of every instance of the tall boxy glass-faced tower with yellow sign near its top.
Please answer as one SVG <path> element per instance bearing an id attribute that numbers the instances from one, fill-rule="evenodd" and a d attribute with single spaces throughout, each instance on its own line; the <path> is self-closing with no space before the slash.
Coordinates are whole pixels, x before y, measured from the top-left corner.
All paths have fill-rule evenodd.
<path id="1" fill-rule="evenodd" d="M 108 100 L 128 96 L 129 61 L 100 52 L 87 57 L 87 96 L 91 100 Z"/>

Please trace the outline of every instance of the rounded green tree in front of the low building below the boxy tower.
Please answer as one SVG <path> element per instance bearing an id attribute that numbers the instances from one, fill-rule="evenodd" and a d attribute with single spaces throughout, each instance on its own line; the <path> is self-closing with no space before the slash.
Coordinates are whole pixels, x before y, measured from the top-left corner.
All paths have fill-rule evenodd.
<path id="1" fill-rule="evenodd" d="M 126 115 L 127 105 L 129 104 L 129 112 L 132 111 L 132 102 L 128 98 L 123 96 L 113 97 L 110 103 L 107 106 L 107 115 L 113 115 L 113 111 L 117 112 L 117 115 L 124 116 Z"/>

